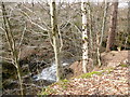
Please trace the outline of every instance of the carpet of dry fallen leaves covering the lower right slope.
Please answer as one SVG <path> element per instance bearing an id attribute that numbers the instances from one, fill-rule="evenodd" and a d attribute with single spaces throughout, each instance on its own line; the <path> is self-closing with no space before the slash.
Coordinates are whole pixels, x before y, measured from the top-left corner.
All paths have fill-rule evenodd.
<path id="1" fill-rule="evenodd" d="M 101 75 L 91 78 L 74 78 L 69 82 L 51 85 L 49 95 L 128 95 L 129 68 L 116 67 Z M 48 91 L 47 91 L 48 92 Z"/>

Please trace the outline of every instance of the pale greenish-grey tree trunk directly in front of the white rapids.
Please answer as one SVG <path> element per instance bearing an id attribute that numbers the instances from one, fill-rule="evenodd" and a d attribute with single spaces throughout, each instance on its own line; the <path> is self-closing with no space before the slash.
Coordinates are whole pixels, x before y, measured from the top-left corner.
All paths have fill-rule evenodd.
<path id="1" fill-rule="evenodd" d="M 51 0 L 50 5 L 51 12 L 51 26 L 52 26 L 52 40 L 53 40 L 53 48 L 55 54 L 55 65 L 56 65 L 56 78 L 57 81 L 62 80 L 62 63 L 61 63 L 61 40 L 57 29 L 57 20 L 56 20 L 56 4 L 55 0 Z"/>

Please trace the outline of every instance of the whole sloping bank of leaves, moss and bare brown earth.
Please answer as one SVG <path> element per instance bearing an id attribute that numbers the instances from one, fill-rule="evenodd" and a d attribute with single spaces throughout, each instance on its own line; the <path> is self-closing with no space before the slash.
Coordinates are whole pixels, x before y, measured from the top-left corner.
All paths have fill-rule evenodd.
<path id="1" fill-rule="evenodd" d="M 80 63 L 70 67 L 75 70 L 69 80 L 56 82 L 41 92 L 41 95 L 129 95 L 129 51 L 102 53 L 104 66 L 82 73 Z"/>

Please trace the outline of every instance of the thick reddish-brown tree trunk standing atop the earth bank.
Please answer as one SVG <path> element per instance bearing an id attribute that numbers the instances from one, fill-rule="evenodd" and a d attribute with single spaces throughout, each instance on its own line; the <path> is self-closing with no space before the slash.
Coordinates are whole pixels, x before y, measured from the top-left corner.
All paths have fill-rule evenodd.
<path id="1" fill-rule="evenodd" d="M 112 16 L 110 16 L 110 28 L 108 31 L 106 52 L 109 52 L 110 48 L 114 46 L 115 33 L 116 33 L 116 28 L 117 28 L 117 12 L 118 12 L 118 0 L 113 2 L 113 11 L 112 11 Z"/>

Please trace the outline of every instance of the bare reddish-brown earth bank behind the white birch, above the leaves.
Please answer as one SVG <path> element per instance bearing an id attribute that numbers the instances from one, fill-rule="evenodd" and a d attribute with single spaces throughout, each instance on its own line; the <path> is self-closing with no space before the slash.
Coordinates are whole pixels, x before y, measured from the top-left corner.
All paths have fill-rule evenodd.
<path id="1" fill-rule="evenodd" d="M 94 66 L 92 64 L 88 65 L 89 72 L 90 71 L 96 71 L 101 70 L 103 68 L 107 67 L 116 67 L 120 64 L 126 64 L 128 63 L 128 58 L 130 59 L 130 51 L 112 51 L 109 53 L 102 53 L 101 54 L 101 59 L 102 59 L 102 67 Z M 129 55 L 129 56 L 128 56 Z M 73 69 L 74 74 L 70 78 L 75 78 L 77 75 L 82 74 L 82 63 L 81 61 L 75 61 L 73 65 L 70 65 L 70 69 Z"/>

